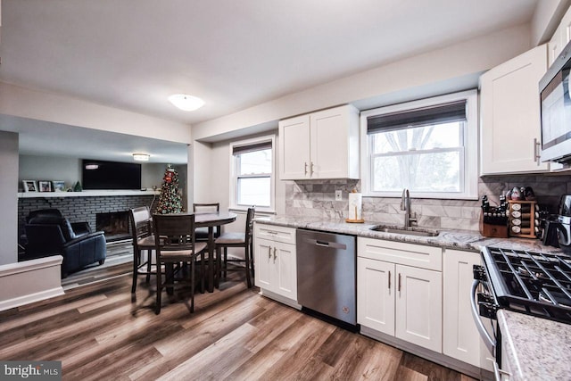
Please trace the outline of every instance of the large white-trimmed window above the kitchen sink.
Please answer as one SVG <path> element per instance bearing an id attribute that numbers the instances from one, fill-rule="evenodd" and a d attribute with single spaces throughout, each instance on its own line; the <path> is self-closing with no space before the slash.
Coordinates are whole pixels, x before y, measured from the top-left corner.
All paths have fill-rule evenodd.
<path id="1" fill-rule="evenodd" d="M 476 90 L 361 112 L 363 193 L 477 198 Z"/>

